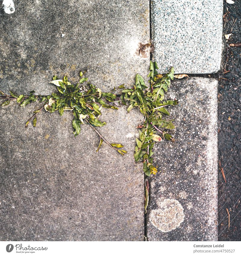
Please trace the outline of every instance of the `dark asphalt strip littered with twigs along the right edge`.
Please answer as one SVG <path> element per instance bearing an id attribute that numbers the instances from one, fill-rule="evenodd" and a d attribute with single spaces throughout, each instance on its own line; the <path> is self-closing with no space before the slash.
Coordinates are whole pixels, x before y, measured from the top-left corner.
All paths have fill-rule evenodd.
<path id="1" fill-rule="evenodd" d="M 228 11 L 227 11 L 228 10 Z M 226 14 L 227 13 L 227 14 Z M 241 3 L 230 5 L 224 1 L 224 40 L 222 70 L 218 75 L 219 165 L 224 177 L 218 174 L 218 239 L 241 240 Z M 213 42 L 215 43 L 215 42 Z M 227 209 L 226 209 L 227 208 Z M 230 214 L 230 227 L 228 212 Z"/>

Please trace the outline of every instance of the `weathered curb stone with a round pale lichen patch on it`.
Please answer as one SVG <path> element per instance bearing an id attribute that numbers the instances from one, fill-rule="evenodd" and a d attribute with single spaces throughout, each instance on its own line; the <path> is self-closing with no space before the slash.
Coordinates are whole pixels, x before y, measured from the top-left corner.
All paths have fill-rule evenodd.
<path id="1" fill-rule="evenodd" d="M 217 86 L 208 78 L 174 81 L 167 98 L 175 142 L 154 147 L 159 172 L 150 178 L 149 241 L 218 239 Z"/>

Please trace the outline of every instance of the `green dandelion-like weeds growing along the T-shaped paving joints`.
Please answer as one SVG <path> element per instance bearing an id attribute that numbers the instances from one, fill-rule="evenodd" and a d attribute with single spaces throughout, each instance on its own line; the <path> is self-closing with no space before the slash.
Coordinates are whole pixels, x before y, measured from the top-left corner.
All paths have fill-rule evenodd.
<path id="1" fill-rule="evenodd" d="M 99 88 L 88 83 L 88 78 L 84 77 L 85 72 L 80 72 L 80 80 L 74 85 L 68 81 L 65 76 L 59 79 L 57 76 L 53 77 L 50 82 L 56 86 L 57 93 L 51 95 L 34 95 L 34 91 L 30 95 L 17 95 L 10 91 L 9 95 L 0 91 L 0 99 L 6 101 L 1 106 L 7 106 L 11 100 L 16 100 L 21 107 L 25 107 L 30 103 L 40 100 L 43 106 L 33 112 L 33 115 L 26 122 L 26 127 L 33 119 L 33 126 L 37 125 L 37 115 L 43 109 L 49 113 L 55 111 L 59 115 L 63 115 L 64 111 L 71 111 L 74 119 L 72 121 L 73 134 L 76 137 L 80 134 L 81 125 L 87 124 L 99 135 L 100 142 L 97 148 L 99 151 L 103 141 L 111 148 L 116 150 L 121 155 L 127 153 L 122 144 L 108 142 L 95 127 L 104 126 L 106 123 L 99 121 L 101 109 L 112 108 L 118 109 L 121 103 L 127 105 L 127 112 L 133 108 L 138 108 L 144 115 L 142 125 L 139 125 L 139 138 L 136 138 L 136 148 L 134 158 L 136 162 L 142 160 L 143 171 L 147 176 L 157 173 L 157 166 L 153 165 L 153 147 L 154 143 L 162 141 L 163 139 L 174 141 L 174 138 L 167 133 L 166 130 L 174 129 L 173 120 L 166 120 L 164 116 L 170 115 L 165 107 L 177 105 L 177 100 L 164 101 L 164 94 L 170 87 L 171 80 L 174 78 L 174 68 L 171 68 L 167 74 L 158 74 L 158 65 L 156 62 L 150 62 L 149 87 L 145 85 L 144 79 L 139 74 L 136 74 L 135 85 L 131 89 L 125 89 L 124 85 L 120 85 L 115 89 L 123 89 L 121 95 L 114 93 L 103 93 Z M 112 90 L 113 91 L 113 90 Z M 113 103 L 117 106 L 114 106 Z M 165 130 L 161 130 L 165 129 Z M 156 134 L 159 133 L 160 135 Z"/>

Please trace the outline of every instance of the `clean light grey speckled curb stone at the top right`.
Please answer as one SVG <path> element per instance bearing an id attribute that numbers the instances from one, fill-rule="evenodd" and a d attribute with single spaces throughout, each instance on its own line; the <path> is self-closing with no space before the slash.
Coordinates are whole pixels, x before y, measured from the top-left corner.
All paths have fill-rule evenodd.
<path id="1" fill-rule="evenodd" d="M 160 71 L 213 73 L 220 70 L 223 1 L 153 0 L 152 37 Z"/>

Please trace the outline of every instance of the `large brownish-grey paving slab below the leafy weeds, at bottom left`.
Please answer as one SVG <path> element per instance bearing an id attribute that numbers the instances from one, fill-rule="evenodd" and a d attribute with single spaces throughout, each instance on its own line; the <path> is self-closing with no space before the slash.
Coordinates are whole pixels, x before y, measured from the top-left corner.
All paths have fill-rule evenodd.
<path id="1" fill-rule="evenodd" d="M 0 240 L 143 240 L 144 178 L 133 158 L 138 111 L 103 110 L 107 125 L 98 130 L 125 145 L 121 156 L 105 143 L 97 153 L 89 126 L 75 138 L 70 112 L 43 112 L 36 128 L 25 128 L 34 108 L 0 108 Z"/>

